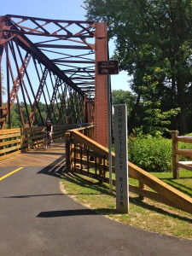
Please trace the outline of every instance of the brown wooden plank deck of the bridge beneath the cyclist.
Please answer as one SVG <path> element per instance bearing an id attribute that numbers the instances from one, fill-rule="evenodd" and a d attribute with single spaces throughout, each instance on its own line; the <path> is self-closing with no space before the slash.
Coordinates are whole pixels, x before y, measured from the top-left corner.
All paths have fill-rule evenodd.
<path id="1" fill-rule="evenodd" d="M 65 144 L 60 141 L 54 144 L 53 148 L 44 151 L 43 148 L 37 148 L 27 151 L 23 154 L 16 154 L 6 160 L 0 161 L 0 167 L 8 166 L 49 166 L 63 165 L 65 161 Z"/>

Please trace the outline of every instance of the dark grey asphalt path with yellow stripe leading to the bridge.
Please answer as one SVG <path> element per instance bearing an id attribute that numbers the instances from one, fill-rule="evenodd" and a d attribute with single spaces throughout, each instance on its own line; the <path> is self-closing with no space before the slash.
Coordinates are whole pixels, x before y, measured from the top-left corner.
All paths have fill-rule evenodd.
<path id="1" fill-rule="evenodd" d="M 1 256 L 192 255 L 192 241 L 119 224 L 63 194 L 61 156 L 49 166 L 35 161 L 0 180 Z"/>

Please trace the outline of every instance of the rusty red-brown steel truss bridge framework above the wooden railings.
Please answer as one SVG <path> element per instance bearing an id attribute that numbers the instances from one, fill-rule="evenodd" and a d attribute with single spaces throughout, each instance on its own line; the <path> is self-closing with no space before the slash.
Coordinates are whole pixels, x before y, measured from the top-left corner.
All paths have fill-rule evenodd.
<path id="1" fill-rule="evenodd" d="M 105 22 L 0 16 L 0 129 L 12 128 L 17 108 L 23 128 L 94 122 L 107 145 L 107 77 L 97 61 L 108 61 Z"/>

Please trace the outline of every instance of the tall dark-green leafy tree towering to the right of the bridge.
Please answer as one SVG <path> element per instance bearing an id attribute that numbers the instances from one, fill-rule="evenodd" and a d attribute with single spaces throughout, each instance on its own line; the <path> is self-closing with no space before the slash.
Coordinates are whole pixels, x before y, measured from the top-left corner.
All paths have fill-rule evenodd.
<path id="1" fill-rule="evenodd" d="M 120 68 L 133 76 L 136 108 L 148 100 L 160 102 L 161 111 L 180 108 L 178 128 L 185 133 L 192 96 L 191 1 L 87 0 L 84 4 L 88 20 L 108 21 Z"/>

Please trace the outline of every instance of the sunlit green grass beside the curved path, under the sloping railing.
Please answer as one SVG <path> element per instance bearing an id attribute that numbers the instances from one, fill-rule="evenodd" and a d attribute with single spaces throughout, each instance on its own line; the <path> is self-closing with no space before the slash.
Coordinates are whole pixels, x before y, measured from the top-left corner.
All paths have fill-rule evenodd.
<path id="1" fill-rule="evenodd" d="M 171 172 L 151 174 L 192 197 L 192 172 L 181 171 L 177 180 L 172 179 Z M 137 185 L 134 179 L 130 183 Z M 148 199 L 140 201 L 131 193 L 129 214 L 119 214 L 115 210 L 115 191 L 109 194 L 108 184 L 80 174 L 63 173 L 62 185 L 76 201 L 108 218 L 143 230 L 192 239 L 192 215 L 187 212 Z"/>

